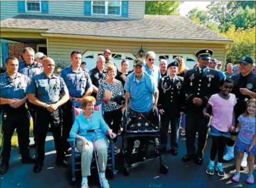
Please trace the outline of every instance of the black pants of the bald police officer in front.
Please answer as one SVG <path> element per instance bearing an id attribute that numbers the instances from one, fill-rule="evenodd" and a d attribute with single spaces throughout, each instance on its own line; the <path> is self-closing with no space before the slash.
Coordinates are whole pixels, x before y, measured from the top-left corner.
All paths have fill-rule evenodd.
<path id="1" fill-rule="evenodd" d="M 61 110 L 57 109 L 50 113 L 45 108 L 38 108 L 36 112 L 36 134 L 37 134 L 37 163 L 43 164 L 44 161 L 44 147 L 46 142 L 47 131 L 49 124 L 52 127 L 53 139 L 55 141 L 55 150 L 57 159 L 65 159 L 65 154 L 62 145 L 61 129 L 62 129 L 62 114 Z"/>

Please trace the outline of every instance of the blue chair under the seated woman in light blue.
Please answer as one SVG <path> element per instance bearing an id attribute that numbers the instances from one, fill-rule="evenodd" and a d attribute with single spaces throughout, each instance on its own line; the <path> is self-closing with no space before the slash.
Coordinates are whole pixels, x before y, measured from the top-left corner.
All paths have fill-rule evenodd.
<path id="1" fill-rule="evenodd" d="M 101 111 L 103 114 L 103 109 L 101 108 L 101 104 L 97 103 L 94 108 L 95 111 Z M 73 122 L 75 121 L 75 117 L 84 111 L 79 108 L 75 102 L 72 102 L 72 116 Z M 89 130 L 88 132 L 92 132 L 94 130 Z M 97 132 L 96 132 L 97 133 Z M 108 148 L 108 156 L 107 156 L 107 170 L 111 172 L 111 177 L 114 178 L 117 174 L 116 166 L 115 166 L 115 156 L 114 156 L 114 141 L 110 139 L 110 145 Z M 81 171 L 81 153 L 79 153 L 78 149 L 76 148 L 76 141 L 75 138 L 68 138 L 68 142 L 71 145 L 71 166 L 72 166 L 72 182 L 76 181 L 76 172 Z M 95 158 L 95 150 L 92 157 L 91 163 L 91 170 L 94 170 L 97 167 L 97 159 Z M 98 174 L 100 176 L 100 174 Z"/>

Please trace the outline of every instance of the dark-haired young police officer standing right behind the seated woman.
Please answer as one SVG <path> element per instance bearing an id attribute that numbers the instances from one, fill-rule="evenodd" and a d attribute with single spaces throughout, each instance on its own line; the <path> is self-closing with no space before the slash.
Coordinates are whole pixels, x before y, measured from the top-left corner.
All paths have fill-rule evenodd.
<path id="1" fill-rule="evenodd" d="M 89 96 L 92 93 L 92 83 L 89 74 L 81 68 L 81 53 L 78 50 L 74 50 L 71 53 L 72 65 L 60 72 L 60 76 L 66 83 L 69 90 L 69 101 L 62 106 L 63 110 L 63 129 L 62 129 L 62 142 L 65 153 L 68 153 L 70 148 L 69 132 L 73 125 L 72 119 L 72 101 L 76 105 L 81 106 L 81 102 L 85 96 Z"/>

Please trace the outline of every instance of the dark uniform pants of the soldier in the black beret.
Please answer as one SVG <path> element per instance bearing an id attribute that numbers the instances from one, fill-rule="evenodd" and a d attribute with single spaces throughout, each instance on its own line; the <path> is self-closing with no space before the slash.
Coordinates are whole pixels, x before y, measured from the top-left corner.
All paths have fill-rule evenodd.
<path id="1" fill-rule="evenodd" d="M 171 148 L 178 149 L 178 116 L 171 116 L 171 112 L 165 111 L 161 115 L 161 142 L 166 147 L 168 140 L 168 128 L 171 122 Z"/>

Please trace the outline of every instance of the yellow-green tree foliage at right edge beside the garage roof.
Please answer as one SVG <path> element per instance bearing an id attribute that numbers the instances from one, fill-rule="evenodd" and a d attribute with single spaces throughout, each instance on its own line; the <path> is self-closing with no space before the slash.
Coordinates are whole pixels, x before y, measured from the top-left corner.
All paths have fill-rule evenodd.
<path id="1" fill-rule="evenodd" d="M 238 63 L 242 56 L 251 56 L 255 59 L 255 27 L 236 30 L 235 25 L 230 25 L 229 30 L 221 34 L 234 41 L 227 51 L 227 62 Z"/>

